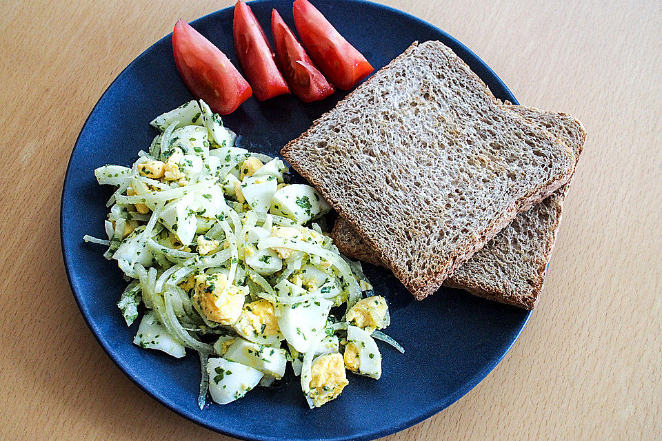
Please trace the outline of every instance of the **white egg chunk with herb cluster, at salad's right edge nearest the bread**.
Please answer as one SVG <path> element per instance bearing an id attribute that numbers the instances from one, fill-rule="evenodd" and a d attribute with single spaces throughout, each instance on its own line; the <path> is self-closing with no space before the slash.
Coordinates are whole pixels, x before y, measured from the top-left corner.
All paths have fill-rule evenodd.
<path id="1" fill-rule="evenodd" d="M 279 189 L 272 198 L 270 212 L 299 224 L 327 214 L 331 206 L 310 185 L 291 184 Z"/>

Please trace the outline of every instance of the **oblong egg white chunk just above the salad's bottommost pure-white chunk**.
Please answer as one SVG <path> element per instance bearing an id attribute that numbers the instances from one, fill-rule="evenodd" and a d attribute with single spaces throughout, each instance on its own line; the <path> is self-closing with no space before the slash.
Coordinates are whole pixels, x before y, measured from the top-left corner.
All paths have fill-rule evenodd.
<path id="1" fill-rule="evenodd" d="M 237 338 L 225 352 L 223 358 L 250 366 L 265 375 L 282 378 L 285 375 L 285 349 L 258 345 L 243 338 Z"/>

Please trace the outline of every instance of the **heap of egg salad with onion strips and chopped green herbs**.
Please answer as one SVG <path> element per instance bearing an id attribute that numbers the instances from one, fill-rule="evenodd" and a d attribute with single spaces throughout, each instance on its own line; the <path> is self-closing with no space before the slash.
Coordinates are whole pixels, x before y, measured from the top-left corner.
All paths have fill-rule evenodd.
<path id="1" fill-rule="evenodd" d="M 234 143 L 203 101 L 158 116 L 131 167 L 94 170 L 114 185 L 108 246 L 130 283 L 117 306 L 134 344 L 175 358 L 199 353 L 198 404 L 228 404 L 255 387 L 299 377 L 311 408 L 337 398 L 348 371 L 379 379 L 375 339 L 390 323 L 361 265 L 320 225 L 330 206 L 291 184 L 278 158 Z M 288 365 L 291 371 L 288 371 Z"/>

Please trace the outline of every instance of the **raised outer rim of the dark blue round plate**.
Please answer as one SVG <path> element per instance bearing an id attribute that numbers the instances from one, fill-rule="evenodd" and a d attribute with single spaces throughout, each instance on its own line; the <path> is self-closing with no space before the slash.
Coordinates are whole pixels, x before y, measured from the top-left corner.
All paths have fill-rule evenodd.
<path id="1" fill-rule="evenodd" d="M 266 0 L 253 0 L 253 1 L 247 1 L 246 3 L 248 3 L 249 5 L 252 5 L 252 4 L 255 4 L 255 3 L 263 3 L 264 1 L 266 1 Z M 384 5 L 382 3 L 377 3 L 377 2 L 369 1 L 369 0 L 343 0 L 343 1 L 346 1 L 348 3 L 358 3 L 358 4 L 368 3 L 370 6 L 372 6 L 374 8 L 383 10 L 384 12 L 387 12 L 389 14 L 396 14 L 396 15 L 399 15 L 403 18 L 410 19 L 410 20 L 415 21 L 415 22 L 417 22 L 417 23 L 419 23 L 419 24 L 421 24 L 425 27 L 432 28 L 435 31 L 439 32 L 440 34 L 443 34 L 445 36 L 445 38 L 452 41 L 452 43 L 454 43 L 454 45 L 457 45 L 458 48 L 461 48 L 461 50 L 463 50 L 463 52 L 468 54 L 469 57 L 472 57 L 473 58 L 472 61 L 477 63 L 477 65 L 479 65 L 481 67 L 481 69 L 485 70 L 485 72 L 487 72 L 489 75 L 491 75 L 494 79 L 494 83 L 499 85 L 499 87 L 501 87 L 503 89 L 503 92 L 505 92 L 505 94 L 510 95 L 510 101 L 512 101 L 513 104 L 519 105 L 519 101 L 517 101 L 515 99 L 514 95 L 512 94 L 512 92 L 510 91 L 508 86 L 505 85 L 505 83 L 494 72 L 494 70 L 492 70 L 492 68 L 490 68 L 490 66 L 487 63 L 485 63 L 485 61 L 483 61 L 483 59 L 478 57 L 477 54 L 475 54 L 472 50 L 470 50 L 461 41 L 459 41 L 455 37 L 452 37 L 452 35 L 448 34 L 448 32 L 445 32 L 444 30 L 441 30 L 436 25 L 433 25 L 432 23 L 430 23 L 428 21 L 425 21 L 425 20 L 423 20 L 419 17 L 416 17 L 415 15 L 410 14 L 409 12 L 405 12 L 403 10 L 399 10 L 397 8 L 394 8 L 394 7 L 388 6 L 388 5 Z M 207 19 L 208 17 L 210 17 L 214 14 L 218 14 L 219 12 L 222 12 L 224 10 L 229 10 L 231 8 L 234 8 L 234 5 L 228 6 L 226 8 L 221 8 L 219 10 L 212 11 L 208 14 L 203 15 L 202 17 L 199 17 L 197 19 L 194 19 L 193 21 L 190 21 L 189 23 L 191 23 L 192 25 L 195 25 L 197 22 L 202 21 L 203 19 Z M 205 422 L 205 421 L 203 421 L 199 418 L 196 418 L 196 416 L 194 416 L 190 413 L 186 413 L 185 411 L 183 411 L 179 407 L 171 405 L 169 402 L 167 402 L 166 400 L 161 399 L 155 393 L 153 393 L 152 391 L 147 389 L 145 386 L 143 386 L 143 384 L 141 384 L 141 382 L 139 381 L 139 379 L 136 376 L 133 376 L 131 373 L 129 373 L 123 367 L 123 365 L 119 362 L 119 360 L 117 360 L 117 358 L 114 356 L 114 354 L 110 350 L 110 347 L 108 347 L 108 345 L 106 345 L 101 340 L 101 338 L 99 336 L 98 329 L 96 329 L 92 325 L 90 317 L 83 312 L 83 305 L 81 305 L 81 298 L 79 297 L 79 294 L 77 293 L 77 291 L 74 289 L 74 284 L 72 283 L 72 275 L 70 274 L 70 262 L 69 262 L 68 255 L 67 255 L 67 252 L 66 252 L 66 245 L 65 245 L 65 240 L 64 240 L 63 224 L 64 224 L 64 220 L 65 220 L 64 219 L 64 214 L 65 214 L 64 208 L 65 208 L 65 205 L 66 205 L 65 194 L 66 194 L 66 189 L 68 187 L 68 182 L 70 181 L 71 165 L 72 165 L 72 158 L 73 158 L 74 151 L 77 150 L 77 148 L 79 147 L 79 142 L 80 142 L 81 136 L 82 136 L 84 130 L 86 129 L 86 127 L 87 127 L 87 125 L 90 121 L 90 117 L 97 110 L 97 107 L 99 106 L 99 103 L 101 103 L 101 101 L 103 101 L 103 98 L 106 96 L 106 94 L 108 94 L 109 90 L 112 88 L 114 83 L 119 81 L 123 77 L 123 75 L 126 73 L 126 71 L 129 70 L 132 67 L 132 65 L 134 65 L 134 63 L 137 63 L 143 57 L 146 57 L 148 52 L 151 52 L 151 50 L 152 50 L 152 48 L 154 48 L 154 46 L 158 45 L 163 40 L 169 39 L 171 37 L 172 37 L 172 32 L 166 34 L 165 36 L 161 37 L 160 39 L 158 39 L 157 41 L 152 43 L 152 45 L 150 45 L 148 48 L 143 50 L 137 57 L 135 57 L 130 63 L 128 63 L 128 65 L 126 65 L 126 67 L 123 68 L 121 70 L 121 72 L 119 72 L 119 74 L 117 74 L 117 76 L 110 82 L 110 84 L 108 84 L 108 86 L 103 91 L 101 96 L 99 96 L 99 99 L 97 100 L 97 102 L 94 103 L 94 106 L 92 107 L 92 110 L 90 110 L 90 113 L 86 117 L 86 120 L 83 123 L 83 125 L 81 126 L 81 130 L 80 130 L 80 132 L 79 132 L 79 134 L 76 138 L 76 141 L 74 142 L 74 146 L 71 150 L 71 153 L 70 153 L 70 156 L 69 156 L 69 159 L 68 159 L 68 162 L 67 162 L 66 173 L 65 173 L 65 176 L 64 176 L 64 180 L 63 180 L 61 197 L 60 197 L 60 216 L 59 216 L 59 221 L 60 221 L 60 225 L 59 225 L 59 227 L 60 227 L 59 228 L 60 229 L 60 246 L 61 246 L 61 251 L 62 251 L 64 267 L 65 267 L 65 271 L 66 271 L 66 275 L 67 275 L 67 280 L 68 280 L 69 287 L 70 287 L 71 292 L 72 292 L 72 296 L 74 297 L 76 305 L 79 308 L 81 316 L 83 317 L 83 320 L 86 322 L 86 325 L 88 326 L 88 329 L 90 329 L 90 331 L 92 333 L 92 336 L 94 336 L 94 339 L 97 340 L 97 342 L 99 343 L 99 346 L 101 346 L 101 349 L 103 349 L 103 351 L 106 353 L 108 358 L 110 358 L 110 360 L 112 360 L 114 365 L 117 368 L 119 368 L 119 370 L 122 371 L 122 373 L 124 373 L 124 375 L 126 377 L 128 377 L 134 384 L 136 384 L 137 387 L 139 387 L 139 389 L 141 389 L 143 392 L 147 393 L 148 396 L 150 396 L 152 399 L 159 402 L 166 409 L 169 409 L 170 411 L 172 411 L 174 413 L 177 413 L 177 415 L 185 418 L 186 420 L 189 420 L 190 422 L 193 422 L 195 424 L 199 424 L 200 426 L 205 427 L 205 429 L 208 429 L 212 432 L 221 433 L 223 435 L 227 435 L 227 436 L 230 436 L 232 438 L 237 438 L 239 440 L 247 440 L 247 441 L 281 441 L 284 438 L 281 438 L 281 437 L 278 437 L 278 436 L 257 436 L 257 437 L 255 437 L 255 436 L 250 435 L 249 433 L 232 431 L 232 429 L 225 430 L 225 429 L 219 429 L 218 427 L 213 427 L 211 424 L 208 424 L 207 422 Z M 443 411 L 444 409 L 450 407 L 451 404 L 454 404 L 455 402 L 457 402 L 460 398 L 465 396 L 469 391 L 471 391 L 474 387 L 476 387 L 479 384 L 479 382 L 481 382 L 483 379 L 485 379 L 485 377 L 487 377 L 490 374 L 490 372 L 492 372 L 494 370 L 496 365 L 498 365 L 499 362 L 501 362 L 501 360 L 503 360 L 505 355 L 508 352 L 510 352 L 510 349 L 512 349 L 514 343 L 517 341 L 519 336 L 521 336 L 521 333 L 522 333 L 523 329 L 526 327 L 528 321 L 530 320 L 531 314 L 532 314 L 532 311 L 526 311 L 526 316 L 523 319 L 521 327 L 519 327 L 519 329 L 516 330 L 516 332 L 514 333 L 514 337 L 512 338 L 512 341 L 510 342 L 510 344 L 508 344 L 508 347 L 505 348 L 503 353 L 501 353 L 501 355 L 499 357 L 497 357 L 496 360 L 494 360 L 494 362 L 492 362 L 488 365 L 485 365 L 485 367 L 483 367 L 483 369 L 481 369 L 475 376 L 473 376 L 472 378 L 469 378 L 466 382 L 464 382 L 462 387 L 457 389 L 457 391 L 455 393 L 453 393 L 451 396 L 449 396 L 449 399 L 445 400 L 445 402 L 441 402 L 441 404 L 439 404 L 438 406 L 430 407 L 429 409 L 426 409 L 425 411 L 423 411 L 421 413 L 418 413 L 416 416 L 410 418 L 409 420 L 401 422 L 400 424 L 394 424 L 392 426 L 385 427 L 385 428 L 380 429 L 378 431 L 371 431 L 370 433 L 361 433 L 361 434 L 358 434 L 356 436 L 352 436 L 350 438 L 323 438 L 323 439 L 325 441 L 350 441 L 350 440 L 351 441 L 369 441 L 369 440 L 374 440 L 376 438 L 381 438 L 381 437 L 386 436 L 386 435 L 392 435 L 393 433 L 397 433 L 399 431 L 407 429 L 408 427 L 412 427 L 415 424 L 418 424 L 419 422 L 422 422 L 423 420 L 427 420 L 428 418 L 430 418 L 430 417 L 436 415 L 437 413 Z M 298 439 L 308 440 L 308 438 L 298 438 Z"/>

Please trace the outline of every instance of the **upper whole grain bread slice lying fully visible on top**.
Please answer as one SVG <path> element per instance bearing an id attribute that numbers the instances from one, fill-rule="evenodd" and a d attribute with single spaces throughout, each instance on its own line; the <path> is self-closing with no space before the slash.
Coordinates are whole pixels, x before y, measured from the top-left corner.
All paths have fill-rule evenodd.
<path id="1" fill-rule="evenodd" d="M 419 299 L 574 170 L 439 41 L 414 43 L 281 153 Z"/>

